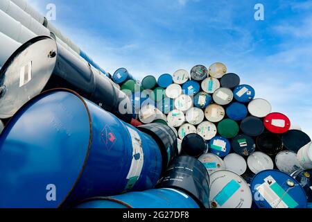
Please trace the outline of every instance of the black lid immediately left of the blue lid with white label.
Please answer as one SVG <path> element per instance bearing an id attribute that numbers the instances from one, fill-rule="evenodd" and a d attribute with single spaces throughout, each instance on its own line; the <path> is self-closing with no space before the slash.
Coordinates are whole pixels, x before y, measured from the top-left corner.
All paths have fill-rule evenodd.
<path id="1" fill-rule="evenodd" d="M 207 151 L 208 145 L 205 139 L 196 133 L 186 135 L 182 140 L 182 153 L 192 157 L 200 157 Z"/>

